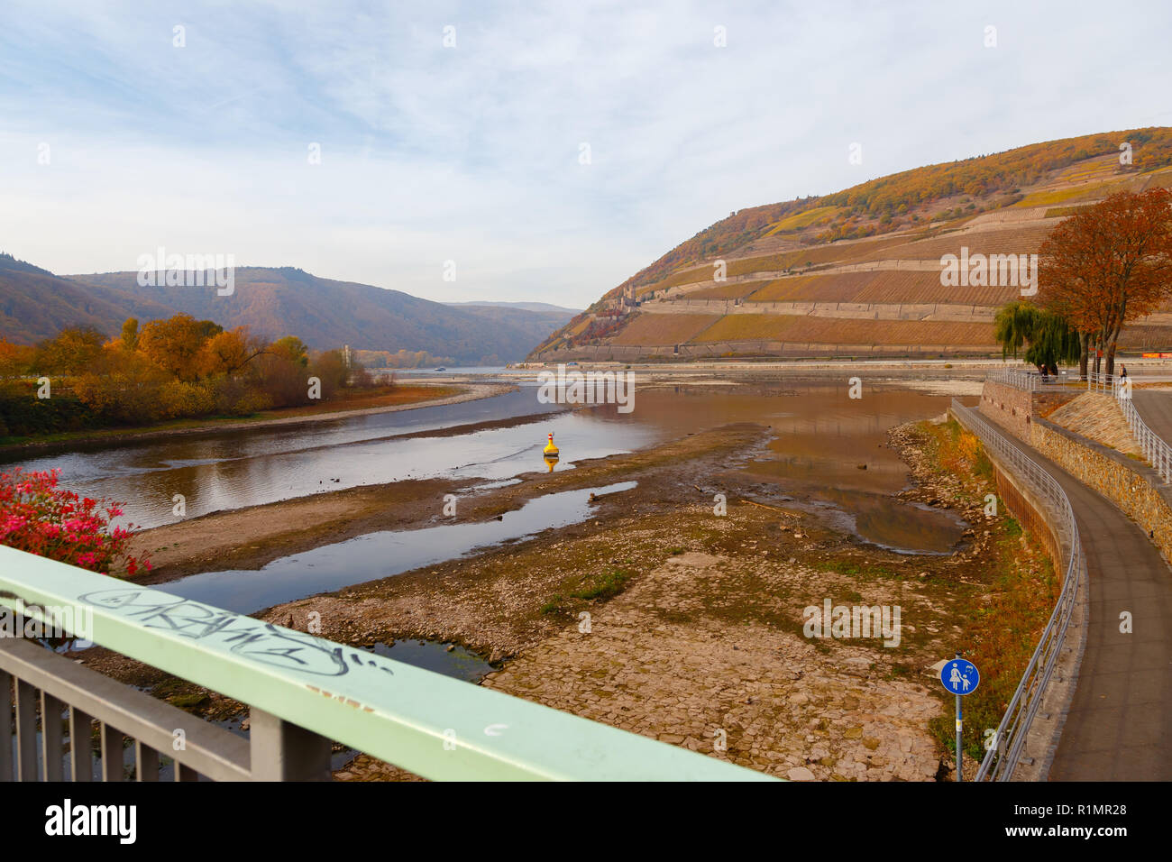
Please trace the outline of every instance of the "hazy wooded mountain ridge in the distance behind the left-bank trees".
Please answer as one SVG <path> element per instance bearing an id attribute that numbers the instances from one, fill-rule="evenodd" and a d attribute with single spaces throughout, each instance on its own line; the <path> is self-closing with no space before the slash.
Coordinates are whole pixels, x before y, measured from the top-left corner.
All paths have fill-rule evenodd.
<path id="1" fill-rule="evenodd" d="M 116 334 L 128 317 L 141 323 L 185 312 L 266 338 L 297 335 L 329 349 L 428 351 L 459 362 L 507 362 L 573 317 L 573 311 L 450 306 L 401 291 L 338 281 L 302 270 L 238 266 L 234 291 L 214 286 L 141 286 L 137 272 L 55 276 L 0 256 L 0 337 L 34 344 L 66 326 Z"/>

